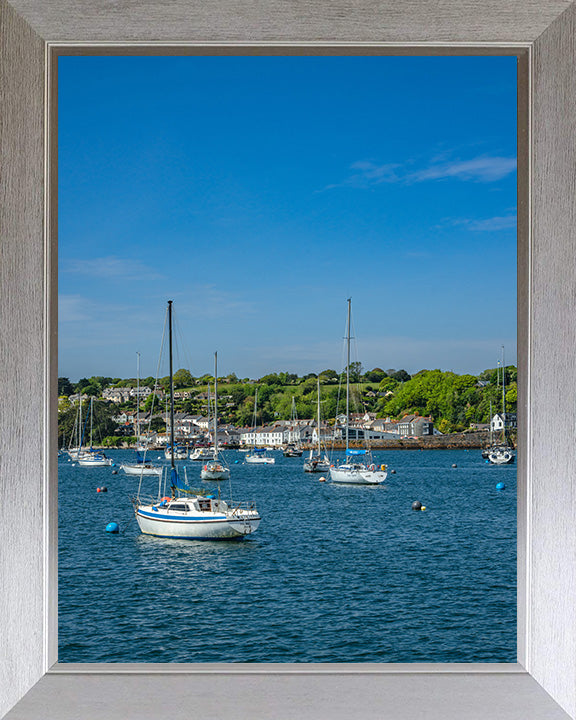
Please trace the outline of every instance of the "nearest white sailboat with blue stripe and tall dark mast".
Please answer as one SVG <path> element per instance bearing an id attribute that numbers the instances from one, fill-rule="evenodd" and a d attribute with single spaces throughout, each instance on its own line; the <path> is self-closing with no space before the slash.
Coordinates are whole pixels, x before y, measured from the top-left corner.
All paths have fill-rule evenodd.
<path id="1" fill-rule="evenodd" d="M 174 381 L 172 364 L 172 300 L 168 301 L 168 336 L 170 361 L 170 496 L 145 502 L 134 499 L 134 512 L 140 530 L 145 535 L 185 540 L 232 540 L 255 532 L 260 515 L 253 503 L 226 502 L 220 497 L 195 493 L 182 479 L 174 461 Z"/>

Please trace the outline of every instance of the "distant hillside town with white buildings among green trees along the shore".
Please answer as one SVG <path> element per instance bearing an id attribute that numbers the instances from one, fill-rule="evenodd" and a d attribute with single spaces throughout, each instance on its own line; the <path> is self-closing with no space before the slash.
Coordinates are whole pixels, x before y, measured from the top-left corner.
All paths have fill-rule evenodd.
<path id="1" fill-rule="evenodd" d="M 442 447 L 449 446 L 450 436 L 469 436 L 472 445 L 482 445 L 491 433 L 503 432 L 515 439 L 517 370 L 512 365 L 475 376 L 441 370 L 421 370 L 414 375 L 381 368 L 364 372 L 360 363 L 352 363 L 350 382 L 354 388 L 348 424 L 352 442 L 369 440 L 376 446 L 420 440 Z M 176 440 L 188 446 L 210 443 L 213 376 L 194 377 L 189 370 L 180 369 L 174 373 L 174 386 Z M 72 442 L 82 405 L 83 418 L 91 406 L 94 444 L 165 446 L 170 432 L 168 394 L 168 378 L 94 376 L 72 383 L 61 377 L 59 445 Z M 342 374 L 329 369 L 304 376 L 271 373 L 256 380 L 234 374 L 219 377 L 218 442 L 231 448 L 308 446 L 317 444 L 318 439 L 327 446 L 338 445 L 346 426 L 343 397 Z"/>

